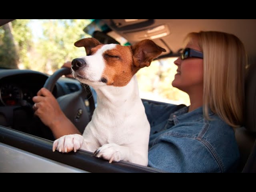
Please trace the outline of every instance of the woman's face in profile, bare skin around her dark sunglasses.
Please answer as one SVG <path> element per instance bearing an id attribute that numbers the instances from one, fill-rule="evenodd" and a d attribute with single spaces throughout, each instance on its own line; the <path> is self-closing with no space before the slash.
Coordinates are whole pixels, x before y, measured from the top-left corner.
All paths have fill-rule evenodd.
<path id="1" fill-rule="evenodd" d="M 192 40 L 187 45 L 186 48 L 192 48 L 194 50 L 200 50 L 197 41 Z M 203 88 L 203 59 L 202 58 L 186 58 L 181 60 L 179 57 L 174 64 L 178 66 L 177 74 L 172 81 L 172 86 L 186 92 L 190 93 L 193 90 L 198 90 L 198 88 Z"/>

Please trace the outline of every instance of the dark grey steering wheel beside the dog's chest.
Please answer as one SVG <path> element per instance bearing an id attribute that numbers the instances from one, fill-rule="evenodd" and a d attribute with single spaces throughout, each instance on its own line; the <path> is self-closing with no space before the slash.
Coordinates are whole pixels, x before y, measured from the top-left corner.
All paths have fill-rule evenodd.
<path id="1" fill-rule="evenodd" d="M 54 72 L 44 84 L 44 88 L 48 89 L 50 92 L 53 91 L 55 83 L 62 76 L 70 74 L 70 68 L 61 68 Z M 85 99 L 89 101 L 90 111 L 86 108 L 84 103 Z M 90 122 L 92 118 L 93 111 L 95 109 L 95 104 L 92 96 L 90 87 L 88 90 L 84 88 L 80 91 L 60 96 L 57 98 L 60 108 L 64 114 L 70 119 L 70 121 L 76 126 L 76 128 L 83 133 L 86 125 Z"/>

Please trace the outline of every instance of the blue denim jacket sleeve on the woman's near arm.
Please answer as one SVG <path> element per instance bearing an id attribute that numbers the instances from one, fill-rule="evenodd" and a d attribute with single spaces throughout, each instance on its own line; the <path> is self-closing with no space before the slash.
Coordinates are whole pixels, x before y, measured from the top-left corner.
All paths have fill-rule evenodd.
<path id="1" fill-rule="evenodd" d="M 166 172 L 222 172 L 204 142 L 168 133 L 149 149 L 148 166 Z"/>

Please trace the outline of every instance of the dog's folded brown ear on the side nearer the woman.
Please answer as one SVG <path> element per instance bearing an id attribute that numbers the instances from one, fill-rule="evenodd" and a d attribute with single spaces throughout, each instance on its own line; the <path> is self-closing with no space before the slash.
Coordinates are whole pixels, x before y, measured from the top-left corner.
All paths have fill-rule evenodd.
<path id="1" fill-rule="evenodd" d="M 146 39 L 142 40 L 132 47 L 134 65 L 137 67 L 150 66 L 152 60 L 158 57 L 162 52 L 166 50 L 157 44 L 154 41 Z"/>

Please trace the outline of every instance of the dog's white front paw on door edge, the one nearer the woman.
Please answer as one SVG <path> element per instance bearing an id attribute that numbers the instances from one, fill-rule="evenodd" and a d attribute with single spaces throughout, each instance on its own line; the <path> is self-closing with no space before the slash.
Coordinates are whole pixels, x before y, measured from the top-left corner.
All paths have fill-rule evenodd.
<path id="1" fill-rule="evenodd" d="M 122 146 L 114 143 L 105 144 L 94 152 L 94 156 L 109 160 L 109 163 L 112 161 L 118 162 L 124 160 L 122 154 Z"/>

